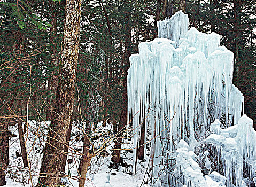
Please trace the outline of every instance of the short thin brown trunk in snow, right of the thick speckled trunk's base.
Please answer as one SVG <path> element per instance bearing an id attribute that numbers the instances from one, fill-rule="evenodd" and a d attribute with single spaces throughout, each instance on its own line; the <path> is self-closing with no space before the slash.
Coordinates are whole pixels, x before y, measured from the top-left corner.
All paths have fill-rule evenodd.
<path id="1" fill-rule="evenodd" d="M 81 162 L 79 163 L 79 187 L 84 187 L 84 183 L 86 182 L 86 173 L 88 166 L 90 166 L 91 161 L 91 154 L 89 153 L 89 147 L 90 147 L 90 141 L 88 139 L 88 136 L 84 136 L 84 142 L 83 142 L 83 155 L 81 157 Z"/>

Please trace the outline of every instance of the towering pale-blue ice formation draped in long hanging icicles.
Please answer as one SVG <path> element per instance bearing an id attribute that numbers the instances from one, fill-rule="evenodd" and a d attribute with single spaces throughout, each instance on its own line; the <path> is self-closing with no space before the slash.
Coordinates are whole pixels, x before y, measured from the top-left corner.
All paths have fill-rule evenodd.
<path id="1" fill-rule="evenodd" d="M 195 160 L 189 158 L 189 150 L 193 151 L 200 141 L 205 140 L 214 119 L 221 119 L 223 128 L 242 128 L 244 135 L 253 131 L 246 131 L 240 125 L 243 122 L 238 120 L 243 111 L 244 97 L 232 84 L 234 54 L 220 46 L 220 35 L 200 33 L 195 28 L 188 29 L 188 21 L 188 16 L 182 11 L 176 12 L 170 19 L 159 21 L 159 38 L 140 43 L 139 53 L 130 57 L 128 121 L 133 124 L 134 147 L 138 146 L 141 124 L 145 124 L 145 129 L 150 129 L 145 130 L 145 137 L 152 137 L 153 185 L 156 181 L 159 183 L 160 179 L 176 184 L 174 170 L 181 172 L 187 186 L 203 186 L 195 182 L 199 178 L 204 186 L 208 185 L 206 181 L 214 181 L 210 175 L 204 177 Z M 230 127 L 237 123 L 237 126 Z M 246 137 L 237 140 L 233 135 L 228 137 L 225 130 L 213 126 L 211 130 L 216 128 L 216 131 L 212 130 L 213 134 L 207 141 L 222 147 L 219 149 L 222 159 L 226 161 L 226 185 L 232 186 L 231 178 L 235 176 L 235 184 L 239 186 L 242 183 L 243 158 L 250 158 L 251 165 L 255 166 L 252 149 L 255 141 Z M 229 144 L 229 148 L 233 143 L 234 146 L 247 146 L 247 149 L 240 149 L 235 156 L 232 155 L 233 158 L 239 158 L 236 160 L 238 165 L 230 166 L 233 162 L 228 159 L 226 148 L 223 148 L 226 145 L 219 144 L 218 136 L 226 138 L 223 143 Z M 189 144 L 185 145 L 185 141 Z M 176 158 L 175 161 L 170 159 L 172 157 Z M 135 158 L 136 151 L 134 162 Z M 190 166 L 187 173 L 181 161 Z M 168 167 L 170 169 L 167 171 L 166 166 L 173 167 Z M 232 169 L 235 169 L 234 172 Z M 192 170 L 196 173 L 194 178 L 188 177 Z M 254 172 L 251 174 L 254 176 Z M 215 186 L 224 186 L 223 180 L 215 183 Z M 161 185 L 165 186 L 164 183 Z"/>

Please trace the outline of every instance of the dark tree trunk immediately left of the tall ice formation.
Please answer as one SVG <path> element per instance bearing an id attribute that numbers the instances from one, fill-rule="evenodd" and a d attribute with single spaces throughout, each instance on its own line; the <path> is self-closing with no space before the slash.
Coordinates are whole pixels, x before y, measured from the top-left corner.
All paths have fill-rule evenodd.
<path id="1" fill-rule="evenodd" d="M 127 8 L 126 8 L 127 7 Z M 124 2 L 124 18 L 125 18 L 125 55 L 123 56 L 124 59 L 124 79 L 123 79 L 123 109 L 120 115 L 120 120 L 118 124 L 118 132 L 117 132 L 117 139 L 115 140 L 115 146 L 112 153 L 111 161 L 115 164 L 121 161 L 121 144 L 122 144 L 122 136 L 127 124 L 127 107 L 128 107 L 128 97 L 127 97 L 127 75 L 128 69 L 130 67 L 129 57 L 131 55 L 131 24 L 130 24 L 130 16 L 131 11 L 129 10 L 130 4 L 128 1 Z"/>

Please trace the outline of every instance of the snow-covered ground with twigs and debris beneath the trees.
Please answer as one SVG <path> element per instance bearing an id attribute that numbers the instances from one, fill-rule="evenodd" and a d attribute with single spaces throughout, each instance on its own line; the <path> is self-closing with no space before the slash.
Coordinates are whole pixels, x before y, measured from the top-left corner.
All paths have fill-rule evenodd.
<path id="1" fill-rule="evenodd" d="M 35 121 L 29 121 L 28 126 L 28 138 L 27 136 L 27 151 L 29 155 L 29 163 L 31 167 L 32 173 L 32 181 L 35 186 L 38 180 L 38 172 L 40 171 L 41 159 L 42 159 L 42 150 L 45 138 L 43 139 L 43 133 L 45 134 L 45 127 L 49 126 L 49 122 L 41 122 L 40 129 L 39 123 Z M 73 123 L 75 127 L 77 124 Z M 99 123 L 99 128 L 97 128 L 97 132 L 95 134 L 106 134 L 107 132 L 112 130 L 111 124 L 106 123 L 106 127 L 102 127 L 102 122 Z M 11 129 L 14 134 L 18 134 L 17 128 L 15 126 Z M 75 135 L 76 128 L 73 128 L 72 134 Z M 27 133 L 26 133 L 27 135 Z M 82 148 L 81 138 L 79 141 L 75 140 L 76 136 L 72 136 L 71 139 L 71 149 Z M 43 141 L 44 140 L 44 141 Z M 95 145 L 100 145 L 100 138 L 94 141 Z M 119 186 L 148 186 L 144 184 L 148 179 L 148 175 L 146 172 L 146 167 L 149 163 L 149 156 L 146 156 L 145 162 L 138 161 L 136 174 L 133 174 L 133 151 L 129 150 L 133 147 L 131 142 L 131 138 L 124 139 L 124 144 L 122 145 L 122 159 L 126 162 L 126 166 L 119 166 L 117 169 L 109 168 L 110 160 L 111 160 L 111 148 L 114 143 L 112 142 L 106 149 L 109 155 L 97 156 L 92 158 L 91 166 L 89 166 L 89 170 L 87 172 L 87 181 L 86 186 L 96 186 L 96 187 L 119 187 Z M 66 175 L 71 176 L 63 178 L 62 182 L 65 186 L 76 187 L 79 186 L 78 182 L 78 173 L 77 168 L 79 165 L 78 157 L 79 155 L 74 154 L 73 151 L 69 151 L 71 153 L 68 154 L 67 159 L 71 159 L 72 163 L 66 164 Z M 82 152 L 82 151 L 80 151 Z M 21 153 L 20 145 L 19 145 L 19 137 L 11 138 L 10 142 L 10 164 L 7 169 L 6 182 L 5 187 L 21 187 L 21 186 L 32 186 L 30 182 L 29 170 L 22 169 L 22 157 L 17 157 L 17 153 Z M 19 154 L 18 154 L 19 155 Z M 127 167 L 129 166 L 129 167 Z M 144 177 L 145 176 L 145 177 Z M 144 181 L 143 181 L 144 178 Z"/>

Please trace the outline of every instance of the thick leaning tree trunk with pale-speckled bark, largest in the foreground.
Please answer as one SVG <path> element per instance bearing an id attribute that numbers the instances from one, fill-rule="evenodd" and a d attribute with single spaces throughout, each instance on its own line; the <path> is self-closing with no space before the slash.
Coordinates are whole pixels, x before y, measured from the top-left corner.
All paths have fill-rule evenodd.
<path id="1" fill-rule="evenodd" d="M 74 106 L 80 16 L 81 0 L 67 0 L 55 110 L 52 113 L 48 139 L 44 147 L 38 187 L 60 184 L 61 164 L 65 155 L 66 138 Z"/>

